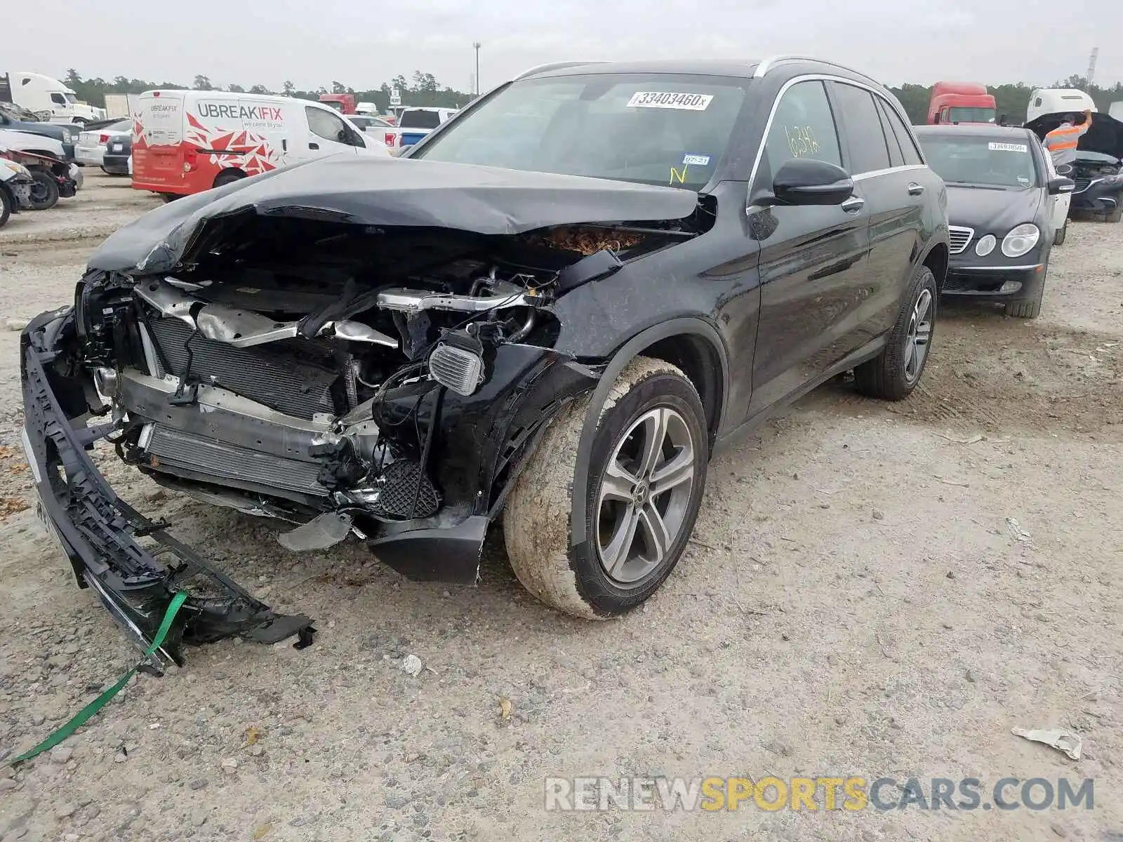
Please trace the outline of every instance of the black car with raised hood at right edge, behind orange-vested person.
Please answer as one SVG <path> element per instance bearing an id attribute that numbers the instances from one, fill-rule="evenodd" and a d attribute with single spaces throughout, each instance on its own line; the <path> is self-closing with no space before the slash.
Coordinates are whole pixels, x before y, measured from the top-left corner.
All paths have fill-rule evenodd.
<path id="1" fill-rule="evenodd" d="M 1062 117 L 1044 115 L 1025 126 L 1044 138 Z M 1070 212 L 1101 217 L 1107 222 L 1123 219 L 1123 121 L 1093 112 L 1092 126 L 1080 136 L 1071 166 L 1076 190 Z"/>

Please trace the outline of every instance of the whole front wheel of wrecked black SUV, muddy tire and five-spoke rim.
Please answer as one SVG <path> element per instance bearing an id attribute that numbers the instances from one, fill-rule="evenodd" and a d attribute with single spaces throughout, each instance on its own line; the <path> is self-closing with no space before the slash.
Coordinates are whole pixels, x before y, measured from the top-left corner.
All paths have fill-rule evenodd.
<path id="1" fill-rule="evenodd" d="M 503 515 L 523 586 L 590 620 L 654 594 L 686 549 L 705 487 L 709 439 L 697 392 L 675 366 L 637 357 L 601 410 L 585 497 L 586 540 L 570 543 L 576 452 L 588 401 L 562 410 L 515 481 Z"/>

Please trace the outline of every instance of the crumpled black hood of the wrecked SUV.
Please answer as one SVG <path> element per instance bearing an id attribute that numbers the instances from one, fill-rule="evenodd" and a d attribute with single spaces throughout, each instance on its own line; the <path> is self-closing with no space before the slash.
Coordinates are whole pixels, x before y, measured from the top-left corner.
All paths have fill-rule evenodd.
<path id="1" fill-rule="evenodd" d="M 683 219 L 696 207 L 696 193 L 669 186 L 343 154 L 149 211 L 109 237 L 89 267 L 166 272 L 203 222 L 247 211 L 510 235 L 577 222 Z"/>

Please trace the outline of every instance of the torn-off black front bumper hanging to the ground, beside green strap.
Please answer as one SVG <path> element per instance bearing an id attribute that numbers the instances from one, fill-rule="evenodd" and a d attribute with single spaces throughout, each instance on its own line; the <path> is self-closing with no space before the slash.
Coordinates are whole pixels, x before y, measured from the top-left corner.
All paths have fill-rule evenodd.
<path id="1" fill-rule="evenodd" d="M 189 579 L 206 580 L 207 595 L 189 596 L 164 644 L 141 668 L 159 675 L 170 661 L 182 665 L 183 643 L 230 635 L 261 643 L 292 634 L 308 640 L 314 629 L 307 616 L 275 614 L 167 534 L 167 524 L 149 521 L 117 497 L 85 452 L 111 427 L 71 427 L 43 366 L 54 351 L 34 344 L 33 333 L 45 321 L 36 319 L 21 337 L 24 447 L 39 494 L 38 511 L 70 558 L 80 586 L 91 587 L 134 643 L 145 650 L 176 592 L 184 591 Z M 157 562 L 136 541 L 141 537 L 150 538 L 174 561 Z"/>

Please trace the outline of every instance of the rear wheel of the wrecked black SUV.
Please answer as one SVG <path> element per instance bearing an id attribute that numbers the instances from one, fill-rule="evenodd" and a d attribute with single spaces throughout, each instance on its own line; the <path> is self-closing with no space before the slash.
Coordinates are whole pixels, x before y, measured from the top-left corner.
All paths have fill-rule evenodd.
<path id="1" fill-rule="evenodd" d="M 928 363 L 938 304 L 935 276 L 922 264 L 913 274 L 905 305 L 897 314 L 885 348 L 853 369 L 859 392 L 883 401 L 900 401 L 909 396 L 920 383 Z"/>

